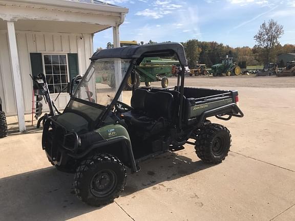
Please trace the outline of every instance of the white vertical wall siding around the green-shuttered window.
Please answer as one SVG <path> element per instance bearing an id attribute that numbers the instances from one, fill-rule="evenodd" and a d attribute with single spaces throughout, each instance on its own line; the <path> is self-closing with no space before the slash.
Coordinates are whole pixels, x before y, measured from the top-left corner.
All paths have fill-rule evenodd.
<path id="1" fill-rule="evenodd" d="M 30 74 L 30 53 L 78 53 L 79 73 L 84 74 L 89 58 L 93 53 L 92 34 L 66 34 L 46 32 L 16 31 L 20 72 L 23 83 L 23 96 L 25 100 L 25 111 L 32 112 L 32 80 Z M 16 105 L 13 92 L 13 81 L 11 65 L 9 60 L 9 49 L 7 42 L 7 31 L 0 30 L 0 96 L 2 98 L 6 114 L 15 115 Z M 52 95 L 53 100 L 56 95 Z M 55 104 L 59 109 L 65 108 L 69 96 L 61 94 Z M 44 104 L 44 111 L 47 105 Z"/>

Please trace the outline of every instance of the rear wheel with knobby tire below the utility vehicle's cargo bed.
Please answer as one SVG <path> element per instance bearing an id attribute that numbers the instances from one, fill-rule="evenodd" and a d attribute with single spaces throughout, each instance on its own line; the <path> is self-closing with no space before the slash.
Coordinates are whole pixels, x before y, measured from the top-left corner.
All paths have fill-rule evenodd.
<path id="1" fill-rule="evenodd" d="M 227 156 L 231 143 L 229 130 L 220 124 L 208 124 L 197 132 L 197 156 L 209 164 L 221 163 Z"/>

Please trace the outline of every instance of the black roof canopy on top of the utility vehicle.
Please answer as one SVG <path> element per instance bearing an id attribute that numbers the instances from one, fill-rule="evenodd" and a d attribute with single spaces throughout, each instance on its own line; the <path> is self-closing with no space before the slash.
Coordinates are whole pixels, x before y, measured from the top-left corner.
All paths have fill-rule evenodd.
<path id="1" fill-rule="evenodd" d="M 100 58 L 134 59 L 143 57 L 170 57 L 174 54 L 177 55 L 180 64 L 187 65 L 183 46 L 180 43 L 175 42 L 104 49 L 95 52 L 90 59 L 97 60 Z"/>

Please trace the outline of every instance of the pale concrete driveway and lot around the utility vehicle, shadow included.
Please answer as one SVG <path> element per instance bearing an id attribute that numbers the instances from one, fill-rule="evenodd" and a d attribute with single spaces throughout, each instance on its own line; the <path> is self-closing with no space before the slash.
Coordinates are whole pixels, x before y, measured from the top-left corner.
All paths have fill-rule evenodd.
<path id="1" fill-rule="evenodd" d="M 74 195 L 73 174 L 47 161 L 41 130 L 19 134 L 10 117 L 0 140 L 0 220 L 295 220 L 295 78 L 191 77 L 186 85 L 239 91 L 245 117 L 212 118 L 233 137 L 223 163 L 204 164 L 185 145 L 129 172 L 114 203 L 90 207 Z"/>

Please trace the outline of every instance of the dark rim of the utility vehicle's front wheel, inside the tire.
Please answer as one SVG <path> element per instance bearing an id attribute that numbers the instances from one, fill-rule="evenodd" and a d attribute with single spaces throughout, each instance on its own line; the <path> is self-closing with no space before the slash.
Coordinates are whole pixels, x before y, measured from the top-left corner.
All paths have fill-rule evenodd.
<path id="1" fill-rule="evenodd" d="M 101 170 L 91 179 L 90 190 L 97 197 L 107 196 L 114 191 L 117 183 L 117 175 L 113 170 Z"/>

